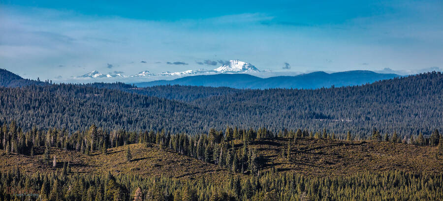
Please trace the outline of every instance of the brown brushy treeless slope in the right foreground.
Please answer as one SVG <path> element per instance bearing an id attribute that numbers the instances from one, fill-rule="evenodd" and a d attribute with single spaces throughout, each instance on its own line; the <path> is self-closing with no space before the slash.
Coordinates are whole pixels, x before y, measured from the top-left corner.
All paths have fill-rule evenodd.
<path id="1" fill-rule="evenodd" d="M 290 159 L 283 157 L 290 144 Z M 443 172 L 443 156 L 437 147 L 390 142 L 341 141 L 287 138 L 254 141 L 261 168 L 304 175 L 350 175 L 355 172 L 424 171 Z M 241 146 L 241 144 L 239 144 Z"/>

